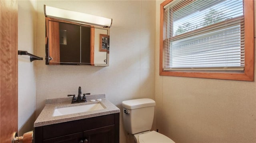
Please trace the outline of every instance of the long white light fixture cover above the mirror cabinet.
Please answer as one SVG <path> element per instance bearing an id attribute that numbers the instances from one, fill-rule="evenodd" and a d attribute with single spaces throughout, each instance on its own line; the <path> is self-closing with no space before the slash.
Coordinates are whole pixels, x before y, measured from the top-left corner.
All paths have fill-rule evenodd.
<path id="1" fill-rule="evenodd" d="M 44 5 L 44 15 L 49 18 L 68 20 L 68 21 L 79 22 L 83 24 L 89 24 L 89 25 L 97 25 L 100 27 L 110 28 L 112 25 L 112 19 L 110 18 L 104 18 L 100 16 L 84 14 L 82 12 L 74 12 L 71 10 L 54 8 L 46 5 Z"/>

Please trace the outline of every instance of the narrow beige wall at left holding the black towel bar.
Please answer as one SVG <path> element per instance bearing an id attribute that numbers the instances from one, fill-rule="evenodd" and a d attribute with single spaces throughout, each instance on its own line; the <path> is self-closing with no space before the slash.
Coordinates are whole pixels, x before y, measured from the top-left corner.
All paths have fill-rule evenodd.
<path id="1" fill-rule="evenodd" d="M 36 2 L 18 1 L 18 50 L 36 53 Z M 18 56 L 18 134 L 33 130 L 36 109 L 36 67 Z"/>

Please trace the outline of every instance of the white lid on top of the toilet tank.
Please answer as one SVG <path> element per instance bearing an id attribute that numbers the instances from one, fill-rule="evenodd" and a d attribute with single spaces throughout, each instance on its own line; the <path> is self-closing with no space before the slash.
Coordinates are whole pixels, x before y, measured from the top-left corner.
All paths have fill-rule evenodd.
<path id="1" fill-rule="evenodd" d="M 156 106 L 156 102 L 149 98 L 133 99 L 123 101 L 122 106 L 126 109 L 136 109 L 142 107 Z"/>

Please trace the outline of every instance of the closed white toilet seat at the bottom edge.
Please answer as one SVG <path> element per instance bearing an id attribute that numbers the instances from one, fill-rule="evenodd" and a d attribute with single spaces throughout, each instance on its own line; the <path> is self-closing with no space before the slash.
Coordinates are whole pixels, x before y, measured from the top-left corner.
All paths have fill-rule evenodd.
<path id="1" fill-rule="evenodd" d="M 175 143 L 169 137 L 156 131 L 140 134 L 138 140 L 139 143 Z"/>

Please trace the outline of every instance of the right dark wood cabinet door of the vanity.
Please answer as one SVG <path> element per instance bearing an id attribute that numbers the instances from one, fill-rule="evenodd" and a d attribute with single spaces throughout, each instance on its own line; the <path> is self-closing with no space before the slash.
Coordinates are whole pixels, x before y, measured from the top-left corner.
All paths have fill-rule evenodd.
<path id="1" fill-rule="evenodd" d="M 84 143 L 114 143 L 115 125 L 84 131 Z"/>

